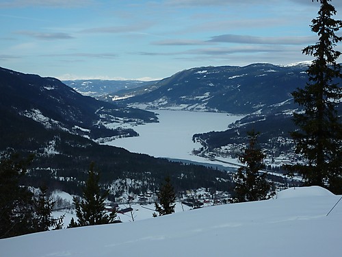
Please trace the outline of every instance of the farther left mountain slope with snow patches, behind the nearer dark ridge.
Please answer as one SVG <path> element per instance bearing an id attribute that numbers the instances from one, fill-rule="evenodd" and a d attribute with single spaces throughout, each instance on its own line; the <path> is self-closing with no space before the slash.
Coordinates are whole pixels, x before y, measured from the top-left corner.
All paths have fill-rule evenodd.
<path id="1" fill-rule="evenodd" d="M 0 108 L 34 119 L 48 128 L 93 139 L 125 134 L 122 130 L 110 130 L 108 123 L 157 121 L 152 112 L 119 108 L 84 97 L 58 79 L 3 68 L 0 68 Z"/>

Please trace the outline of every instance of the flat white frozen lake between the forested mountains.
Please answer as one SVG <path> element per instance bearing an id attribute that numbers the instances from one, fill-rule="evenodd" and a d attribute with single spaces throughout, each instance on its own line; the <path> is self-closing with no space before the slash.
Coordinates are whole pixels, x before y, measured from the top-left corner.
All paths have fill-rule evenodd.
<path id="1" fill-rule="evenodd" d="M 159 123 L 132 127 L 140 136 L 119 138 L 106 144 L 155 157 L 208 162 L 192 155 L 193 149 L 201 147 L 200 144 L 192 142 L 192 136 L 196 133 L 226 130 L 230 123 L 241 119 L 241 116 L 214 112 L 153 112 L 159 114 Z"/>

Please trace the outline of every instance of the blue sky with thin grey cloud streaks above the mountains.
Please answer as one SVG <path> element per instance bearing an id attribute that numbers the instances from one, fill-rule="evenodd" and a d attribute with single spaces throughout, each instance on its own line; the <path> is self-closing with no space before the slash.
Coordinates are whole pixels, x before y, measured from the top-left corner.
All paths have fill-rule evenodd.
<path id="1" fill-rule="evenodd" d="M 335 19 L 342 1 L 333 0 Z M 1 0 L 0 66 L 60 79 L 156 79 L 196 66 L 311 60 L 311 0 Z M 341 45 L 338 48 L 341 51 Z"/>

